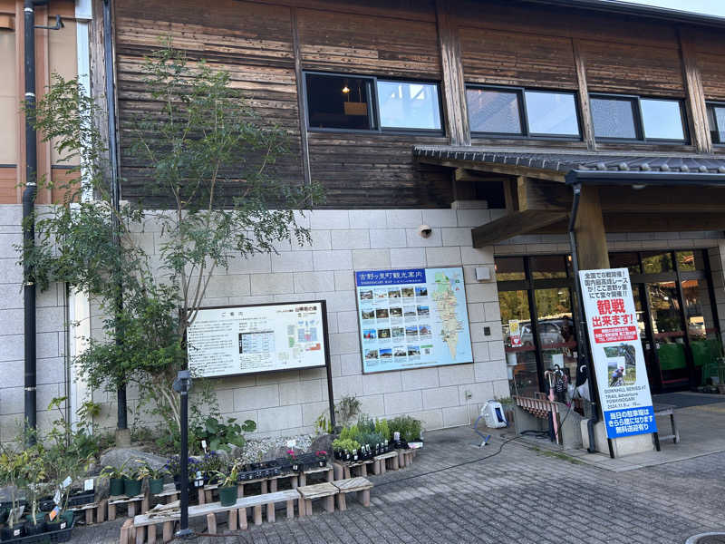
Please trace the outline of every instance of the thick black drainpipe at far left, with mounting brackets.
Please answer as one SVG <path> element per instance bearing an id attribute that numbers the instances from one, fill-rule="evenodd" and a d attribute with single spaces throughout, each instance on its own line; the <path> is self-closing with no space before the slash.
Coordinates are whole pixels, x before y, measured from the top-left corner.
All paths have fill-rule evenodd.
<path id="1" fill-rule="evenodd" d="M 24 0 L 24 68 L 25 68 L 25 189 L 23 191 L 23 244 L 32 248 L 35 243 L 35 194 L 38 156 L 34 127 L 35 109 L 35 10 L 34 0 Z M 23 261 L 24 305 L 24 370 L 25 370 L 25 429 L 34 430 L 37 424 L 35 385 L 37 377 L 35 345 L 35 283 L 34 268 Z M 33 440 L 33 439 L 31 439 Z"/>

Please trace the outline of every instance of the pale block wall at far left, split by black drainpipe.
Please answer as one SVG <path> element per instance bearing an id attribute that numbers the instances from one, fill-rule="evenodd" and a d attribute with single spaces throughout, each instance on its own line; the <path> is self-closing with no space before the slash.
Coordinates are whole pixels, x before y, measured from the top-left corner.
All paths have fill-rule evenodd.
<path id="1" fill-rule="evenodd" d="M 23 268 L 15 244 L 23 241 L 23 207 L 0 205 L 0 442 L 13 440 L 24 422 Z M 37 293 L 38 427 L 46 430 L 57 413 L 46 409 L 65 394 L 65 293 L 53 284 Z"/>

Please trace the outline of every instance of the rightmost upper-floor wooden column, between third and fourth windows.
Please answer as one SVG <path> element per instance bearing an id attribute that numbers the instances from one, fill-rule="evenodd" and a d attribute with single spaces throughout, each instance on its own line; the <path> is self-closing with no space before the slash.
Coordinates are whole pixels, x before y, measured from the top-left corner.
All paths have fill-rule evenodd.
<path id="1" fill-rule="evenodd" d="M 679 29 L 680 54 L 682 63 L 682 79 L 685 83 L 687 100 L 685 105 L 688 112 L 688 124 L 692 143 L 700 153 L 712 152 L 710 128 L 708 127 L 708 112 L 705 105 L 705 92 L 702 89 L 700 67 L 697 64 L 697 52 L 692 42 L 691 34 L 686 29 Z"/>

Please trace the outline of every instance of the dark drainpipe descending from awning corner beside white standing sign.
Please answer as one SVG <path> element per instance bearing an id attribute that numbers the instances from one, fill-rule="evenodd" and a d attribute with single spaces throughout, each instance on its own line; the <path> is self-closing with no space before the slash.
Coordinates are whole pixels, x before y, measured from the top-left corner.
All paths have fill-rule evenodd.
<path id="1" fill-rule="evenodd" d="M 572 211 L 569 215 L 569 245 L 572 249 L 572 268 L 574 270 L 576 289 L 576 309 L 579 317 L 579 326 L 577 327 L 579 334 L 576 336 L 576 353 L 579 368 L 581 368 L 583 364 L 586 365 L 586 381 L 589 384 L 589 398 L 591 399 L 592 407 L 592 415 L 586 422 L 586 431 L 589 434 L 589 447 L 587 448 L 587 452 L 595 453 L 596 444 L 594 442 L 594 423 L 599 421 L 599 407 L 595 401 L 597 397 L 595 396 L 596 387 L 594 386 L 594 373 L 592 372 L 591 367 L 591 364 L 593 364 L 592 357 L 591 355 L 588 357 L 585 355 L 588 351 L 587 328 L 584 314 L 584 300 L 582 298 L 582 284 L 579 283 L 579 255 L 576 249 L 576 233 L 574 229 L 576 214 L 579 211 L 579 199 L 582 195 L 582 186 L 576 183 L 575 185 L 572 185 L 572 189 L 574 189 L 574 199 L 572 200 Z M 587 359 L 589 361 L 588 363 Z"/>

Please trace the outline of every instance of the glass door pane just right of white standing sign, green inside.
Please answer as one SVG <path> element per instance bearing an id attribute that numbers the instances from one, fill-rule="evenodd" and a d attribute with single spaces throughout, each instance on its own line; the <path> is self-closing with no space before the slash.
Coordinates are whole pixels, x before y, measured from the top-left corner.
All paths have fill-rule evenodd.
<path id="1" fill-rule="evenodd" d="M 685 353 L 685 332 L 677 293 L 677 283 L 662 281 L 647 284 L 652 316 L 652 336 L 660 361 L 662 386 L 686 384 L 690 380 Z"/>

